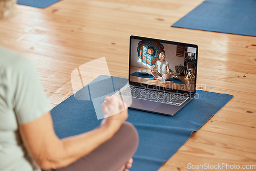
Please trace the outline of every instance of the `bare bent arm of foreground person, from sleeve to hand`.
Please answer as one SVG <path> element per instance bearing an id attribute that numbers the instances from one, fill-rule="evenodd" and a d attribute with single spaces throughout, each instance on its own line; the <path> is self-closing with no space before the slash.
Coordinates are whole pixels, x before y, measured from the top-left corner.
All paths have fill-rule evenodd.
<path id="1" fill-rule="evenodd" d="M 122 105 L 117 98 L 106 98 L 106 101 L 107 104 L 102 105 L 105 114 L 111 112 L 107 105 L 116 110 L 114 112 Z M 60 140 L 54 132 L 52 117 L 48 112 L 31 122 L 19 125 L 19 133 L 27 151 L 42 169 L 60 168 L 89 154 L 109 140 L 126 118 L 127 109 L 103 119 L 101 125 L 90 132 Z"/>

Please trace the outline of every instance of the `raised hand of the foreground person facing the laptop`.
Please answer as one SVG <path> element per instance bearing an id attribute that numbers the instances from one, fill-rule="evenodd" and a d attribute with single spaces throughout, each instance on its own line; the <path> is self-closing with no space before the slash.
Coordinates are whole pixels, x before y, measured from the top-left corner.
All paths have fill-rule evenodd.
<path id="1" fill-rule="evenodd" d="M 106 126 L 113 132 L 117 132 L 123 122 L 128 118 L 127 107 L 123 101 L 115 96 L 106 97 L 102 104 L 104 119 L 101 126 Z"/>

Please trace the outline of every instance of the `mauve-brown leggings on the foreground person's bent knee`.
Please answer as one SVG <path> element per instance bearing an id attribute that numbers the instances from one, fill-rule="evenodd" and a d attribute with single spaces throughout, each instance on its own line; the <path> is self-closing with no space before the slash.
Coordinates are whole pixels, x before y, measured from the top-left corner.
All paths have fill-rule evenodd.
<path id="1" fill-rule="evenodd" d="M 120 130 L 110 140 L 87 156 L 67 167 L 58 168 L 56 171 L 117 171 L 136 152 L 138 139 L 135 127 L 129 122 L 124 122 Z"/>

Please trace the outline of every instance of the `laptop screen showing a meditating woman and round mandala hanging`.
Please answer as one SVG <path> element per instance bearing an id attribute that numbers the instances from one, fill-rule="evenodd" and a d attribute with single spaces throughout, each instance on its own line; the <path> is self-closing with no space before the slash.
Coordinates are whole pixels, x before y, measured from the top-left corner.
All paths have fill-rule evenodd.
<path id="1" fill-rule="evenodd" d="M 130 37 L 129 81 L 138 86 L 195 93 L 197 45 Z"/>

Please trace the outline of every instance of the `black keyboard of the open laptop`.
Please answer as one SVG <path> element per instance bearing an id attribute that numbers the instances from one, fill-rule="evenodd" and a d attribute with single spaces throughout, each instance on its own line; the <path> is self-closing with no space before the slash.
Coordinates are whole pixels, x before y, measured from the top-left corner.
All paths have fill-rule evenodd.
<path id="1" fill-rule="evenodd" d="M 188 97 L 183 95 L 141 89 L 133 86 L 125 88 L 123 91 L 118 93 L 118 95 L 173 105 L 181 105 L 184 101 L 188 99 Z"/>

